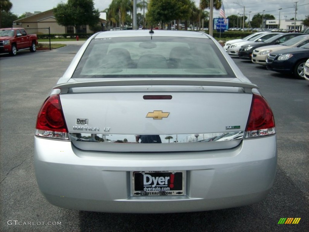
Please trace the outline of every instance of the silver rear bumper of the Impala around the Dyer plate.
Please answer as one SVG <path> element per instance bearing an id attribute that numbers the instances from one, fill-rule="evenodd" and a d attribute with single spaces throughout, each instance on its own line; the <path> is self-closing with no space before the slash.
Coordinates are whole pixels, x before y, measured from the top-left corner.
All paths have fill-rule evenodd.
<path id="1" fill-rule="evenodd" d="M 70 142 L 35 138 L 40 191 L 63 208 L 117 213 L 214 210 L 263 200 L 277 166 L 276 136 L 233 149 L 185 153 L 86 152 Z M 185 170 L 183 196 L 132 196 L 132 171 Z"/>

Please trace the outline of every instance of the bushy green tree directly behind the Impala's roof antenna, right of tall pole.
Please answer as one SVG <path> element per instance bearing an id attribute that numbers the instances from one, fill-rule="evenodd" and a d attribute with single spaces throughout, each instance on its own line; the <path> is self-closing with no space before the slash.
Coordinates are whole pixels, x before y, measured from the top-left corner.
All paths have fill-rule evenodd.
<path id="1" fill-rule="evenodd" d="M 163 25 L 174 19 L 187 20 L 189 14 L 189 0 L 150 0 L 146 17 L 150 24 Z"/>

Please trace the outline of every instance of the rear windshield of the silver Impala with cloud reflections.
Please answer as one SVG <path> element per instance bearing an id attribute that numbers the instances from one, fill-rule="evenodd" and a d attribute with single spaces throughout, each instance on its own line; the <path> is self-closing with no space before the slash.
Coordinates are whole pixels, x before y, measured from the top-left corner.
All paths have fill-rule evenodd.
<path id="1" fill-rule="evenodd" d="M 149 36 L 93 39 L 73 78 L 147 76 L 235 77 L 210 39 Z"/>

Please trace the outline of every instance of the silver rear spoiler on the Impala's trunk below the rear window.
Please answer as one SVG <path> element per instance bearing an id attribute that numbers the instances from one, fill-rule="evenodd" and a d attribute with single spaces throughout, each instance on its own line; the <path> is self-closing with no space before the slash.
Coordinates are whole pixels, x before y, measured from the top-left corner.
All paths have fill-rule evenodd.
<path id="1" fill-rule="evenodd" d="M 191 86 L 219 86 L 243 88 L 250 93 L 253 88 L 259 88 L 252 83 L 220 80 L 188 80 L 188 79 L 128 79 L 128 80 L 100 80 L 80 81 L 74 83 L 57 84 L 53 89 L 60 89 L 61 93 L 68 93 L 69 88 L 101 87 L 101 86 L 142 86 L 142 85 L 191 85 Z"/>

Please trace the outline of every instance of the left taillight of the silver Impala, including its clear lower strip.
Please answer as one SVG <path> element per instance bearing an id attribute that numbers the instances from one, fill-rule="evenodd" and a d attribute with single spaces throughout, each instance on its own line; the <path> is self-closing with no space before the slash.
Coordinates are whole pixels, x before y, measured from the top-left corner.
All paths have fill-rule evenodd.
<path id="1" fill-rule="evenodd" d="M 36 120 L 36 135 L 47 138 L 68 139 L 59 95 L 52 95 L 42 105 Z"/>

